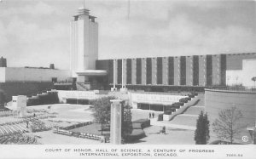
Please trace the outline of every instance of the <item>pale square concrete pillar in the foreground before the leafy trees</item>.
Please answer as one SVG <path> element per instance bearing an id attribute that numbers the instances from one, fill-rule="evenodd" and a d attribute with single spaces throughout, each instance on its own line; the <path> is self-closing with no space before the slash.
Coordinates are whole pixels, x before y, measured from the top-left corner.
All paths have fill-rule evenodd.
<path id="1" fill-rule="evenodd" d="M 122 139 L 122 104 L 120 99 L 110 100 L 111 102 L 111 125 L 110 125 L 110 143 L 120 145 Z"/>

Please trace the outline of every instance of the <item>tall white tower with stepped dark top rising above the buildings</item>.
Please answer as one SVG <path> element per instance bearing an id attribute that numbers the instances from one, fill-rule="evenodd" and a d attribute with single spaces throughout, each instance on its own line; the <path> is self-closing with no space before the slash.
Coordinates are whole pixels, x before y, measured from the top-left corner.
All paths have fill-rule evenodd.
<path id="1" fill-rule="evenodd" d="M 98 24 L 90 10 L 81 8 L 71 21 L 70 70 L 73 77 L 77 72 L 96 69 L 98 59 Z"/>

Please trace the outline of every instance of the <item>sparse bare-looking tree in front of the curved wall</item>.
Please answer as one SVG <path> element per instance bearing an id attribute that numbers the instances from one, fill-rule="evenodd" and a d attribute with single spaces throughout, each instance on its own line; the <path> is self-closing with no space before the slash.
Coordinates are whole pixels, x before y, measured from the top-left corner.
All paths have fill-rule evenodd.
<path id="1" fill-rule="evenodd" d="M 219 139 L 227 139 L 233 144 L 234 137 L 241 133 L 241 126 L 238 123 L 242 118 L 241 111 L 236 107 L 220 111 L 218 119 L 212 123 L 213 132 L 217 134 Z"/>

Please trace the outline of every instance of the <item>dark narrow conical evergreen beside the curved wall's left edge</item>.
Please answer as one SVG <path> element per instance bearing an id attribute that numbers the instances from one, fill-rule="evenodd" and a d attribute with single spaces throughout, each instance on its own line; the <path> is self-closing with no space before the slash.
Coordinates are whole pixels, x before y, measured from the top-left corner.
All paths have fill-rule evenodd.
<path id="1" fill-rule="evenodd" d="M 194 139 L 196 145 L 206 145 L 210 139 L 208 116 L 207 114 L 203 114 L 203 111 L 201 111 L 196 122 Z"/>

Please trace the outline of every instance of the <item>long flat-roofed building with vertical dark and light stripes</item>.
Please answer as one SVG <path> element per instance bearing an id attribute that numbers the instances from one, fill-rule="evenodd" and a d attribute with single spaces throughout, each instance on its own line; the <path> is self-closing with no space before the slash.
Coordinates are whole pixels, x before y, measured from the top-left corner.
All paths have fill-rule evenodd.
<path id="1" fill-rule="evenodd" d="M 253 63 L 252 63 L 253 60 Z M 245 65 L 250 64 L 250 67 Z M 113 68 L 113 66 L 115 67 Z M 97 70 L 108 71 L 108 84 L 132 86 L 209 87 L 225 85 L 253 86 L 245 68 L 256 65 L 256 54 L 207 54 L 118 60 L 96 60 Z M 122 75 L 123 66 L 123 75 Z M 113 75 L 114 74 L 114 75 Z M 115 79 L 113 79 L 115 78 Z"/>

